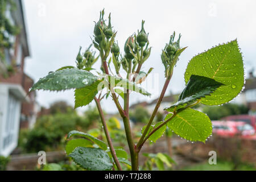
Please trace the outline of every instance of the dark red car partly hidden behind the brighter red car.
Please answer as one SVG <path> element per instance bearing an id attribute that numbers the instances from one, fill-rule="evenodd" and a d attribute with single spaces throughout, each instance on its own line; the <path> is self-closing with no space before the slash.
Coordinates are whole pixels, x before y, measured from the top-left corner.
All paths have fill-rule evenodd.
<path id="1" fill-rule="evenodd" d="M 224 121 L 243 121 L 247 124 L 250 124 L 254 127 L 254 130 L 256 130 L 256 116 L 255 115 L 229 115 L 228 117 L 222 118 L 221 120 Z"/>

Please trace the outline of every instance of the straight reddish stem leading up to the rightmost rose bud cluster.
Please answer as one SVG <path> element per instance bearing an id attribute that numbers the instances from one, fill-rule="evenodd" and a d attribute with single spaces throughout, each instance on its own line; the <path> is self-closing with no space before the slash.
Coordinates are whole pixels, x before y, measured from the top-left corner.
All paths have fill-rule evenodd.
<path id="1" fill-rule="evenodd" d="M 138 142 L 138 144 L 137 144 L 138 148 L 141 148 L 142 145 L 143 145 L 143 140 L 144 140 L 144 138 L 145 138 L 145 136 L 146 136 L 146 134 L 147 134 L 147 131 L 150 129 L 150 126 L 151 126 L 151 124 L 152 124 L 153 119 L 155 118 L 155 115 L 156 115 L 156 113 L 157 113 L 157 111 L 158 111 L 158 109 L 159 109 L 159 106 L 160 106 L 160 104 L 161 104 L 161 102 L 162 102 L 162 100 L 163 100 L 164 94 L 166 93 L 166 89 L 167 89 L 167 87 L 168 87 L 168 85 L 169 85 L 169 82 L 170 82 L 170 80 L 171 80 L 171 77 L 172 77 L 172 74 L 166 78 L 166 82 L 164 83 L 162 92 L 161 92 L 161 94 L 160 94 L 160 96 L 159 96 L 159 98 L 158 98 L 158 102 L 157 102 L 156 105 L 155 105 L 155 109 L 154 109 L 154 111 L 153 111 L 153 113 L 152 113 L 152 115 L 151 115 L 151 117 L 150 117 L 150 120 L 149 120 L 148 123 L 147 123 L 146 129 L 144 130 L 144 132 L 143 132 L 141 138 L 139 139 L 139 142 Z"/>

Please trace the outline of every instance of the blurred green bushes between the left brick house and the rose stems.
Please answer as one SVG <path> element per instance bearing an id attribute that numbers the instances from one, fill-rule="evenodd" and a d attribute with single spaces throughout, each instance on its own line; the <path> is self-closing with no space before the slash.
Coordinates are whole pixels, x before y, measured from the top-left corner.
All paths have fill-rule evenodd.
<path id="1" fill-rule="evenodd" d="M 18 146 L 23 153 L 61 150 L 69 131 L 86 131 L 97 126 L 100 119 L 96 108 L 89 107 L 79 115 L 63 101 L 52 104 L 48 113 L 36 120 L 33 129 L 20 130 Z"/>

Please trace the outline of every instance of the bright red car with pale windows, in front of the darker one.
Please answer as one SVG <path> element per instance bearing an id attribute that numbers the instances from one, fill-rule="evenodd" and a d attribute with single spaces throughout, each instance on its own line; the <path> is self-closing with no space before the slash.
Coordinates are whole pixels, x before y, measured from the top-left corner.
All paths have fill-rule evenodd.
<path id="1" fill-rule="evenodd" d="M 240 135 L 242 138 L 250 138 L 255 135 L 254 128 L 243 121 L 212 121 L 212 132 L 223 137 Z"/>

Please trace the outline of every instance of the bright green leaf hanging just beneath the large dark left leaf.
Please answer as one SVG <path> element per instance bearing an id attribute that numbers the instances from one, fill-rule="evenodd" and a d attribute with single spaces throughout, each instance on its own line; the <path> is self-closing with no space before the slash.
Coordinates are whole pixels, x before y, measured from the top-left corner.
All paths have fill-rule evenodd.
<path id="1" fill-rule="evenodd" d="M 92 85 L 75 90 L 75 109 L 90 104 L 101 88 L 98 88 L 101 80 L 93 82 Z"/>

